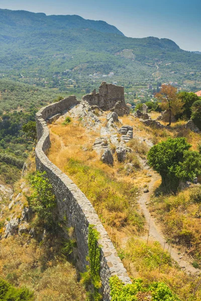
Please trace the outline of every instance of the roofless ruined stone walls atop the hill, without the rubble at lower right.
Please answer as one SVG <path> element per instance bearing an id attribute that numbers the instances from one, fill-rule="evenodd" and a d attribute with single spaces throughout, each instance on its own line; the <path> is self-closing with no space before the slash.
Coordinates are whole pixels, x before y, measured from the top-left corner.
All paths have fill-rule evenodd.
<path id="1" fill-rule="evenodd" d="M 99 86 L 98 93 L 93 90 L 92 93 L 83 96 L 82 99 L 90 105 L 97 105 L 100 109 L 110 110 L 114 108 L 118 101 L 125 104 L 124 87 L 103 82 Z"/>

